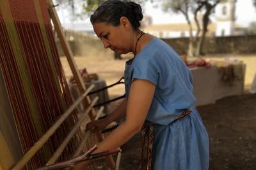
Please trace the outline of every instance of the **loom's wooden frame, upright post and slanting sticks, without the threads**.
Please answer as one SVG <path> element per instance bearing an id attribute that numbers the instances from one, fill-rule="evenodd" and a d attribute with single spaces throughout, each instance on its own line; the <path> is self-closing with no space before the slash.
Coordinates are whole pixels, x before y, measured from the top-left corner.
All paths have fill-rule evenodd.
<path id="1" fill-rule="evenodd" d="M 12 169 L 22 169 L 22 167 L 26 166 L 26 164 L 29 162 L 29 160 L 35 155 L 36 151 L 40 150 L 44 143 L 47 142 L 49 137 L 51 137 L 52 134 L 56 131 L 58 127 L 60 127 L 61 123 L 65 121 L 65 119 L 68 117 L 68 115 L 71 114 L 71 112 L 76 109 L 77 105 L 79 105 L 83 100 L 84 100 L 84 108 L 86 110 L 83 112 L 83 116 L 81 116 L 80 120 L 74 125 L 72 130 L 69 132 L 63 143 L 59 146 L 59 148 L 54 152 L 50 160 L 47 162 L 46 165 L 51 165 L 56 162 L 58 157 L 61 155 L 62 151 L 64 150 L 65 146 L 67 146 L 68 142 L 72 138 L 72 136 L 76 133 L 76 130 L 79 128 L 79 125 L 85 120 L 87 114 L 90 116 L 90 120 L 97 120 L 100 116 L 100 114 L 103 111 L 104 107 L 100 107 L 99 111 L 97 114 L 95 113 L 95 110 L 93 109 L 93 105 L 98 100 L 98 97 L 95 97 L 92 101 L 90 100 L 90 97 L 88 97 L 88 93 L 92 90 L 94 85 L 90 86 L 88 89 L 84 86 L 83 79 L 81 77 L 81 74 L 79 73 L 79 70 L 77 68 L 76 62 L 74 61 L 74 56 L 72 54 L 72 51 L 70 49 L 70 46 L 68 45 L 67 40 L 65 39 L 65 35 L 63 33 L 63 30 L 61 28 L 61 23 L 58 18 L 57 12 L 55 10 L 55 6 L 52 3 L 52 0 L 46 0 L 48 3 L 48 10 L 49 10 L 49 16 L 52 20 L 52 23 L 54 25 L 54 29 L 56 30 L 56 33 L 58 35 L 58 38 L 60 39 L 61 42 L 61 47 L 63 48 L 63 52 L 65 56 L 67 57 L 68 64 L 70 66 L 70 69 L 72 71 L 72 74 L 74 75 L 74 78 L 76 80 L 77 88 L 79 89 L 79 93 L 81 96 L 77 98 L 77 100 L 65 111 L 62 116 L 60 117 L 59 120 L 57 120 L 54 125 L 52 125 L 47 132 L 34 144 L 34 146 L 15 164 L 15 166 L 12 167 Z M 83 150 L 83 146 L 86 143 L 86 140 L 88 139 L 90 135 L 90 131 L 86 132 L 80 146 L 77 148 L 77 151 L 72 155 L 72 157 L 77 157 L 81 151 Z M 104 139 L 104 136 L 100 133 L 100 131 L 96 132 L 97 139 L 99 141 L 102 141 Z M 105 157 L 106 163 L 108 164 L 109 169 L 119 169 L 120 165 L 120 157 L 121 153 L 119 152 L 116 158 L 116 163 L 113 160 L 113 157 L 111 155 L 108 155 Z"/>

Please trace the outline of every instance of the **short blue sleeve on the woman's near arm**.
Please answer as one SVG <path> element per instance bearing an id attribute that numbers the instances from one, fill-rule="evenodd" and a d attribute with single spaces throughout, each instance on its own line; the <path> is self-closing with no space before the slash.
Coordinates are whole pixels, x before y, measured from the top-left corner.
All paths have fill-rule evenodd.
<path id="1" fill-rule="evenodd" d="M 159 66 L 154 60 L 136 61 L 131 68 L 131 82 L 134 81 L 134 79 L 143 79 L 157 86 L 159 70 Z"/>

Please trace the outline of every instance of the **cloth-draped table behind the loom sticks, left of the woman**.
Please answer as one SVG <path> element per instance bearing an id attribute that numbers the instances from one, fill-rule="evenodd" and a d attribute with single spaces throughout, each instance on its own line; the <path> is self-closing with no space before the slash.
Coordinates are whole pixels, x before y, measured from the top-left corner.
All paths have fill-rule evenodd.
<path id="1" fill-rule="evenodd" d="M 98 89 L 106 87 L 106 81 L 104 79 L 98 79 L 97 81 L 92 81 L 92 82 L 84 82 L 84 85 L 86 88 L 94 84 L 94 88 L 92 91 L 96 91 Z M 71 95 L 73 100 L 76 100 L 79 97 L 79 91 L 77 89 L 76 84 L 68 84 Z M 98 93 L 90 95 L 90 99 L 93 100 L 95 97 L 99 97 L 99 100 L 96 102 L 95 105 L 101 104 L 103 102 L 107 102 L 109 100 L 109 95 L 108 95 L 108 89 L 104 89 L 103 91 L 99 91 Z M 103 105 L 104 106 L 104 112 L 108 112 L 108 104 Z M 79 112 L 83 111 L 83 103 L 81 103 L 77 109 Z"/>

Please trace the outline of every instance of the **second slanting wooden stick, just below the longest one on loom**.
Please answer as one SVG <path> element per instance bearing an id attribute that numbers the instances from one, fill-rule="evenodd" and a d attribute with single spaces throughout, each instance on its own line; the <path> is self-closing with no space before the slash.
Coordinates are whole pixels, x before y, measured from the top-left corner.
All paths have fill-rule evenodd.
<path id="1" fill-rule="evenodd" d="M 69 134 L 67 135 L 67 137 L 64 139 L 64 141 L 61 143 L 61 145 L 59 146 L 59 148 L 54 152 L 54 154 L 52 155 L 52 157 L 50 158 L 50 160 L 47 162 L 47 166 L 54 164 L 56 162 L 56 160 L 58 160 L 58 158 L 60 157 L 61 153 L 63 152 L 63 150 L 65 149 L 65 147 L 67 146 L 68 142 L 70 141 L 70 139 L 73 137 L 74 134 L 76 134 L 77 129 L 79 128 L 79 126 L 81 125 L 81 123 L 83 123 L 84 119 L 86 118 L 86 116 L 88 115 L 88 113 L 90 112 L 90 110 L 92 109 L 93 105 L 95 105 L 95 103 L 97 102 L 97 100 L 99 99 L 99 97 L 95 97 L 92 100 L 92 103 L 90 104 L 90 106 L 86 109 L 85 112 L 83 112 L 83 116 L 80 118 L 80 120 L 76 123 L 76 125 L 74 125 L 74 127 L 72 128 L 72 130 L 69 132 Z"/>

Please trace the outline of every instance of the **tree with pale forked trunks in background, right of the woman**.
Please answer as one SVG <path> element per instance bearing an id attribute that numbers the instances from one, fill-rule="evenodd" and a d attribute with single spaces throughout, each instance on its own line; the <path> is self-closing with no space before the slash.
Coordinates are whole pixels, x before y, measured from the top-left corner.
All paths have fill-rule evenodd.
<path id="1" fill-rule="evenodd" d="M 207 26 L 210 22 L 210 15 L 214 12 L 216 5 L 225 0 L 162 0 L 164 11 L 182 13 L 189 24 L 189 49 L 188 56 L 200 56 L 202 45 L 207 33 Z M 256 0 L 255 0 L 256 1 Z M 198 20 L 198 13 L 203 13 L 202 20 Z M 196 34 L 193 35 L 193 26 L 189 13 L 192 13 L 196 24 Z M 196 48 L 195 48 L 196 47 Z"/>

